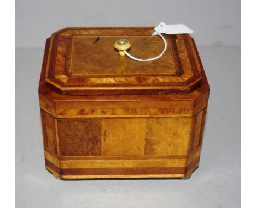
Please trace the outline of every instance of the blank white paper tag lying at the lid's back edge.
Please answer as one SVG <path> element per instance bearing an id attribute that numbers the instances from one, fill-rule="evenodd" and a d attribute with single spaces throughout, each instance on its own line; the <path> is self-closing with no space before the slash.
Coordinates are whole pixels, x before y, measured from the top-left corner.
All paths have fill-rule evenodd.
<path id="1" fill-rule="evenodd" d="M 159 25 L 156 26 L 154 30 L 155 32 L 165 33 L 167 35 L 193 33 L 193 30 L 189 29 L 187 26 L 183 24 L 165 25 L 164 22 L 159 23 Z"/>

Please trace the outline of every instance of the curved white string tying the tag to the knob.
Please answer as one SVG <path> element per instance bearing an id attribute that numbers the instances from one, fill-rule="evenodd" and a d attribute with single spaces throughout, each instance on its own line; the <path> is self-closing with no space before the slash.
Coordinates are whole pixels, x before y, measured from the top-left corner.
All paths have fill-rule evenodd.
<path id="1" fill-rule="evenodd" d="M 154 58 L 149 58 L 149 59 L 139 59 L 139 58 L 133 57 L 131 54 L 129 54 L 125 50 L 124 53 L 126 54 L 126 56 L 130 57 L 133 60 L 137 60 L 138 62 L 149 62 L 150 60 L 155 60 L 155 59 L 160 58 L 165 53 L 165 51 L 167 49 L 167 42 L 166 42 L 164 36 L 162 36 L 162 34 L 161 34 L 161 32 L 165 29 L 165 27 L 166 27 L 165 23 L 164 22 L 160 22 L 159 25 L 154 28 L 155 32 L 151 34 L 152 36 L 159 35 L 162 38 L 162 40 L 164 41 L 164 43 L 165 43 L 164 51 L 162 51 L 158 56 L 156 56 Z"/>

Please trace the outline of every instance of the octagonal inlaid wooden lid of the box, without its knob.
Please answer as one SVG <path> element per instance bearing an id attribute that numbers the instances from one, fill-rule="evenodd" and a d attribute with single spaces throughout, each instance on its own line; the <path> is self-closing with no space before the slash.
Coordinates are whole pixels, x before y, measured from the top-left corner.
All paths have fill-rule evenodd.
<path id="1" fill-rule="evenodd" d="M 51 36 L 45 82 L 64 95 L 185 94 L 201 83 L 189 34 L 164 35 L 167 50 L 150 62 L 119 56 L 127 39 L 132 56 L 147 59 L 164 48 L 150 28 L 65 28 Z"/>

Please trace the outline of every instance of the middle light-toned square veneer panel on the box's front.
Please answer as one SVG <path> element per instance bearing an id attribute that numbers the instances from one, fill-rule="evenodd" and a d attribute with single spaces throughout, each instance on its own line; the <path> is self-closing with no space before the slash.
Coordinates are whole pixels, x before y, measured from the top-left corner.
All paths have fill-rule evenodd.
<path id="1" fill-rule="evenodd" d="M 146 119 L 102 119 L 102 156 L 144 155 Z"/>

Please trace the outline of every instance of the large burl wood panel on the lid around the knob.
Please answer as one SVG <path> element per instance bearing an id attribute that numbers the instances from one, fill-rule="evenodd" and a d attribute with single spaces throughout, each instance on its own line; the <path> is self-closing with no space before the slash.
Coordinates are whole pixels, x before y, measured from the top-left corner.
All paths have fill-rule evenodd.
<path id="1" fill-rule="evenodd" d="M 158 56 L 165 47 L 159 36 L 101 36 L 97 42 L 95 36 L 75 36 L 72 39 L 69 73 L 79 77 L 88 74 L 176 74 L 170 45 L 161 59 L 135 62 L 128 57 L 120 57 L 115 51 L 113 44 L 120 38 L 128 39 L 132 45 L 130 53 L 142 59 Z"/>

